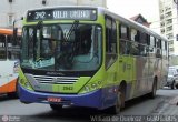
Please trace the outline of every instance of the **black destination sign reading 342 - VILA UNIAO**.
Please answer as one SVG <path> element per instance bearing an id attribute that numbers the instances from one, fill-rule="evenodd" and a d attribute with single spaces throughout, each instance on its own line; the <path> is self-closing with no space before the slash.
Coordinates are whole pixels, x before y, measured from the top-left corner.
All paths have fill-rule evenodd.
<path id="1" fill-rule="evenodd" d="M 96 9 L 46 9 L 28 11 L 27 21 L 39 20 L 96 20 Z"/>

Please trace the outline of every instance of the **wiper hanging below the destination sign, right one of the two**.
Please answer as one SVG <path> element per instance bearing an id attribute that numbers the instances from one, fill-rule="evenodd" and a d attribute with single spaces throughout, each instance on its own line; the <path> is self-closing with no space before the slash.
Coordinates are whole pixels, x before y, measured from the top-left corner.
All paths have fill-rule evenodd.
<path id="1" fill-rule="evenodd" d="M 78 26 L 79 26 L 79 20 L 75 20 L 75 22 L 72 23 L 68 34 L 65 37 L 66 41 L 69 41 L 72 31 L 77 30 Z"/>

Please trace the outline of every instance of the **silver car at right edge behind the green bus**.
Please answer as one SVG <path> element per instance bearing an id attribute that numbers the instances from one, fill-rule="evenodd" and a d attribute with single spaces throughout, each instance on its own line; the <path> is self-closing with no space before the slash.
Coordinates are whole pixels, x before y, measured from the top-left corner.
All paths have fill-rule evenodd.
<path id="1" fill-rule="evenodd" d="M 171 89 L 178 89 L 178 67 L 169 67 L 167 87 Z"/>

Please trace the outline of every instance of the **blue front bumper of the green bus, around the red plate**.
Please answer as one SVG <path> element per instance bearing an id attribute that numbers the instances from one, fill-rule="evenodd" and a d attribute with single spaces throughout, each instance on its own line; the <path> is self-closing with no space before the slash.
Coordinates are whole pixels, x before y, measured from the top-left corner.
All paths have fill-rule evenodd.
<path id="1" fill-rule="evenodd" d="M 19 98 L 23 103 L 47 103 L 102 109 L 101 94 L 101 89 L 85 94 L 57 94 L 29 91 L 19 85 Z M 60 101 L 49 102 L 49 98 L 60 99 Z"/>

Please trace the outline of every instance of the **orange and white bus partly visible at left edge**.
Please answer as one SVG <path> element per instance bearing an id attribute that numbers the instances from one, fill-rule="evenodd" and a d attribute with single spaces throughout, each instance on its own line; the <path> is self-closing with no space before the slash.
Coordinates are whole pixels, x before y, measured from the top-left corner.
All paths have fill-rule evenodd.
<path id="1" fill-rule="evenodd" d="M 12 29 L 0 28 L 0 94 L 11 98 L 17 96 L 20 37 L 14 41 Z"/>

